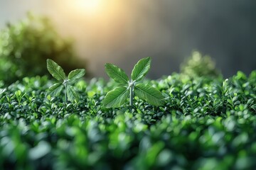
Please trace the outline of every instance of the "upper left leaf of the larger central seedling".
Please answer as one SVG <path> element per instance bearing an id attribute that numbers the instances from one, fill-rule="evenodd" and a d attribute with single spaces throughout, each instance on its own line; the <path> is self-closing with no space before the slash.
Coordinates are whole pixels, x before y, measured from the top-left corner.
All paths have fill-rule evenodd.
<path id="1" fill-rule="evenodd" d="M 116 81 L 119 84 L 128 84 L 128 77 L 127 74 L 125 74 L 124 70 L 117 67 L 114 64 L 106 63 L 105 64 L 105 70 L 107 72 L 107 75 L 111 77 L 114 81 Z"/>

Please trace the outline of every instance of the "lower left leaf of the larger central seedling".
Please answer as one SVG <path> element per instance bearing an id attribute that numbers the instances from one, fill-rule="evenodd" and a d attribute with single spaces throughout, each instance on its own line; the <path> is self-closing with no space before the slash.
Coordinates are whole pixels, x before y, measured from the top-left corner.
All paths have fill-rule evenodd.
<path id="1" fill-rule="evenodd" d="M 129 97 L 127 87 L 117 87 L 109 91 L 103 100 L 103 105 L 107 108 L 115 108 L 121 106 Z"/>

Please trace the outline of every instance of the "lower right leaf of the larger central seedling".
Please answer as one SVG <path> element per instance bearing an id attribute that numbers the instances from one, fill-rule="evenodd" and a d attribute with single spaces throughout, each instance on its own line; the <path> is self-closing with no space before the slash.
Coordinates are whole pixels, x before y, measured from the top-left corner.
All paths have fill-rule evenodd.
<path id="1" fill-rule="evenodd" d="M 161 106 L 164 103 L 164 96 L 161 94 L 161 92 L 149 85 L 135 85 L 134 94 L 154 106 Z"/>

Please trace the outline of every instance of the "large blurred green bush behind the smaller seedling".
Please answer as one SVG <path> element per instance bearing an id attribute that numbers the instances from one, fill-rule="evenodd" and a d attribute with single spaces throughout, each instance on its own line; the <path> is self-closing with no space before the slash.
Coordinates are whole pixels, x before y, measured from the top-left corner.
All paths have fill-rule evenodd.
<path id="1" fill-rule="evenodd" d="M 28 13 L 24 20 L 7 24 L 0 32 L 0 80 L 11 84 L 22 77 L 46 75 L 46 59 L 58 62 L 65 72 L 84 68 L 73 41 L 62 38 L 50 19 Z"/>

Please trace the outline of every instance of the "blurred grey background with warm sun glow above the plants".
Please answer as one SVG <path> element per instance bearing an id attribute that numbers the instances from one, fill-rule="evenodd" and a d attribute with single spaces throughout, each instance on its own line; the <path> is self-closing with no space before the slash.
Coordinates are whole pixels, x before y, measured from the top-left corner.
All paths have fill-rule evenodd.
<path id="1" fill-rule="evenodd" d="M 130 74 L 152 57 L 149 77 L 158 79 L 178 72 L 193 50 L 213 57 L 224 77 L 256 69 L 254 0 L 0 0 L 0 28 L 27 11 L 73 38 L 95 77 L 106 77 L 106 62 Z"/>

